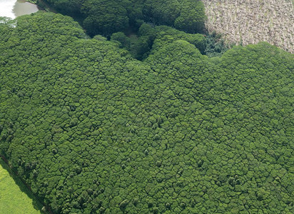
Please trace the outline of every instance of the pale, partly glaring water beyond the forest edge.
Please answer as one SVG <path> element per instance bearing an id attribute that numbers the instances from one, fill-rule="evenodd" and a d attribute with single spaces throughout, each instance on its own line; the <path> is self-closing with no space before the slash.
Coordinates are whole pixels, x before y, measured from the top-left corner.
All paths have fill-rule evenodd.
<path id="1" fill-rule="evenodd" d="M 17 16 L 31 14 L 39 11 L 36 4 L 24 0 L 0 0 L 0 16 L 15 19 Z"/>

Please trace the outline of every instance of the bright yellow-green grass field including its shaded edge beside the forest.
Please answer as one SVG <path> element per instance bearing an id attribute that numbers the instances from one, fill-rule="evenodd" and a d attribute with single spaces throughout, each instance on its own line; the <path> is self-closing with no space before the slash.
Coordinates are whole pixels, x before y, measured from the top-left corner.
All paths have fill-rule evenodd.
<path id="1" fill-rule="evenodd" d="M 42 205 L 0 158 L 0 213 L 42 213 Z"/>

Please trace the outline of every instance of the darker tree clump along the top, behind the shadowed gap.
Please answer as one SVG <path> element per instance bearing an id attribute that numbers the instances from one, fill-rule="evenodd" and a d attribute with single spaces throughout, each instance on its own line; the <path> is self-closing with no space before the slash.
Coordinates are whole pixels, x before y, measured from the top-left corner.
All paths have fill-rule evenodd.
<path id="1" fill-rule="evenodd" d="M 206 15 L 199 0 L 49 0 L 61 13 L 83 16 L 83 27 L 91 36 L 110 36 L 137 29 L 143 21 L 175 26 L 189 33 L 203 31 Z"/>

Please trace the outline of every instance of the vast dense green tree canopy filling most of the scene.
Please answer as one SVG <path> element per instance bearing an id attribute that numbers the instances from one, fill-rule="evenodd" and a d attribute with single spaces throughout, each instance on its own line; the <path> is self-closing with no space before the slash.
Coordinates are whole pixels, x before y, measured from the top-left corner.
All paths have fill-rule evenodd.
<path id="1" fill-rule="evenodd" d="M 54 213 L 292 213 L 293 55 L 146 36 L 142 62 L 69 17 L 0 24 L 0 153 Z"/>

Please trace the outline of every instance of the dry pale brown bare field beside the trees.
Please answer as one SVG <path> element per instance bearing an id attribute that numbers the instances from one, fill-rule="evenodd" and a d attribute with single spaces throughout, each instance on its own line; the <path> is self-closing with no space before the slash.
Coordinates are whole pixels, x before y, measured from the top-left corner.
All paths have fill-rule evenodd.
<path id="1" fill-rule="evenodd" d="M 291 0 L 203 0 L 208 31 L 234 44 L 267 41 L 294 53 L 294 7 Z"/>

